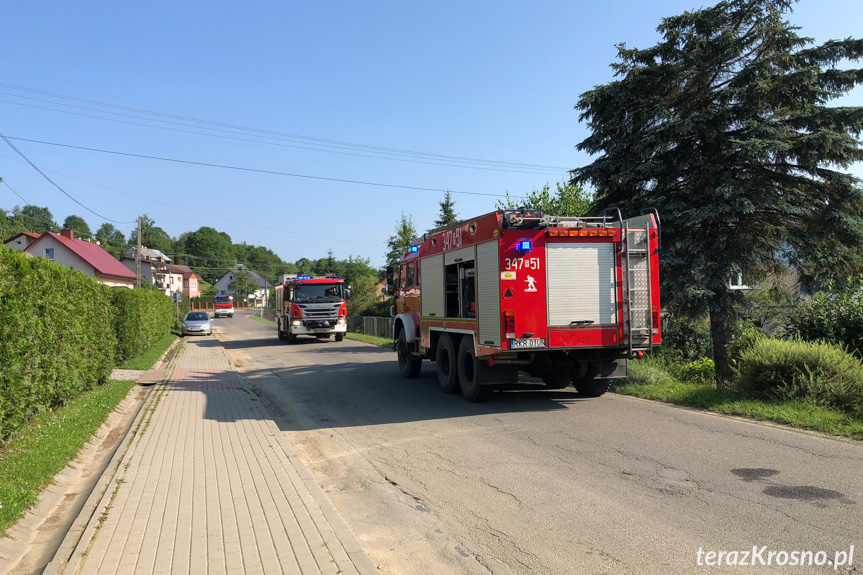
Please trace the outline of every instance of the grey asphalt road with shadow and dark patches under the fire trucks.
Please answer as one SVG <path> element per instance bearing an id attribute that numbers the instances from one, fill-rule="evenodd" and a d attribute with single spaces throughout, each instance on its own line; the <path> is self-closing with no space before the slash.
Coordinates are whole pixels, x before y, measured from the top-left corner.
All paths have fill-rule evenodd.
<path id="1" fill-rule="evenodd" d="M 471 404 L 390 350 L 215 325 L 384 573 L 728 572 L 699 550 L 851 545 L 863 573 L 859 442 L 571 388 Z M 777 559 L 744 571 L 836 572 Z"/>

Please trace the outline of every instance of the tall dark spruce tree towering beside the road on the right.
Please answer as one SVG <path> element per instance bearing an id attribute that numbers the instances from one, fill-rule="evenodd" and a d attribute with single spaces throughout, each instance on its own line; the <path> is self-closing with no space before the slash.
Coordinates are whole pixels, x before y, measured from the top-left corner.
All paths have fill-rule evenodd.
<path id="1" fill-rule="evenodd" d="M 661 41 L 618 45 L 616 79 L 581 94 L 598 155 L 573 171 L 595 211 L 656 206 L 663 304 L 708 313 L 717 375 L 740 305 L 729 280 L 778 265 L 845 273 L 863 243 L 863 108 L 827 103 L 863 82 L 863 40 L 814 45 L 792 0 L 726 0 L 665 18 Z"/>

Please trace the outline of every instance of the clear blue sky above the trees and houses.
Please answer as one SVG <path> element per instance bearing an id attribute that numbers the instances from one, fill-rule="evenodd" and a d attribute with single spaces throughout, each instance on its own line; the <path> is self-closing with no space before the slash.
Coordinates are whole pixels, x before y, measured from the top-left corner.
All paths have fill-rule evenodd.
<path id="1" fill-rule="evenodd" d="M 0 132 L 266 171 L 518 195 L 561 181 L 560 168 L 589 161 L 574 149 L 587 132 L 573 106 L 579 94 L 611 79 L 614 44 L 652 45 L 663 16 L 702 5 L 7 3 Z M 790 19 L 817 41 L 859 37 L 863 2 L 803 0 Z M 858 89 L 846 100 L 861 105 L 863 93 Z M 327 142 L 289 134 L 553 169 L 499 163 L 476 169 L 432 156 L 395 161 L 370 148 L 332 143 L 337 147 L 327 149 L 341 153 L 324 152 L 307 148 Z M 412 215 L 421 232 L 432 226 L 443 196 L 14 143 L 67 192 L 110 219 L 147 213 L 175 237 L 212 226 L 287 261 L 320 258 L 332 249 L 339 258 L 360 255 L 382 265 L 384 242 L 400 213 Z M 80 215 L 94 232 L 103 223 L 0 145 L 0 177 L 27 203 L 47 206 L 60 223 Z M 863 169 L 854 171 L 863 176 Z M 494 209 L 494 197 L 453 198 L 463 217 Z M 23 203 L 0 185 L 0 207 Z M 133 226 L 118 227 L 128 233 Z"/>

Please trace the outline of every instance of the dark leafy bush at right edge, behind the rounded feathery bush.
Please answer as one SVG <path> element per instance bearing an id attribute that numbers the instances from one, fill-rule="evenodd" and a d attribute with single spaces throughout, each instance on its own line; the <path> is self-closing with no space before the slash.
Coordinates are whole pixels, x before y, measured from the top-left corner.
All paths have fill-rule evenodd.
<path id="1" fill-rule="evenodd" d="M 841 344 L 863 357 L 863 298 L 861 289 L 821 292 L 800 303 L 791 314 L 789 331 L 807 341 Z"/>

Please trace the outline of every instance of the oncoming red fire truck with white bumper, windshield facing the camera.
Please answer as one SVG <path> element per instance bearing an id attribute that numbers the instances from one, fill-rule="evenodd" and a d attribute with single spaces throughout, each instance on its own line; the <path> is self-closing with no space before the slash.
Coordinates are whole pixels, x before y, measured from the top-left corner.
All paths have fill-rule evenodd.
<path id="1" fill-rule="evenodd" d="M 294 343 L 298 335 L 342 341 L 348 331 L 349 290 L 337 276 L 297 276 L 276 286 L 276 328 L 279 339 Z"/>

